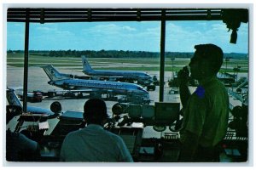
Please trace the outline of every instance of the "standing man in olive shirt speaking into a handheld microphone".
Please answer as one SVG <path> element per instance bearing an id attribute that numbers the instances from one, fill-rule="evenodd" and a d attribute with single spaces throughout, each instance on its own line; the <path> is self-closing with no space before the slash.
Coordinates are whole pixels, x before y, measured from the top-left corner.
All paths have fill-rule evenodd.
<path id="1" fill-rule="evenodd" d="M 191 77 L 199 86 L 189 92 L 189 70 L 177 74 L 183 105 L 182 143 L 179 161 L 219 161 L 218 144 L 228 127 L 229 96 L 217 78 L 223 63 L 223 51 L 214 44 L 195 45 L 190 60 Z"/>

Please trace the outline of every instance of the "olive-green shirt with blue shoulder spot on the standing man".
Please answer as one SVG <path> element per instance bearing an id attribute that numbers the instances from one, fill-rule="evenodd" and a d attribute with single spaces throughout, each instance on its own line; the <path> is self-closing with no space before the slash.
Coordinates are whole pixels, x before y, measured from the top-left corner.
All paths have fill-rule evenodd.
<path id="1" fill-rule="evenodd" d="M 183 129 L 180 140 L 185 139 L 185 130 L 198 135 L 199 144 L 211 147 L 222 139 L 229 119 L 229 96 L 222 82 L 212 77 L 195 90 L 184 110 Z"/>

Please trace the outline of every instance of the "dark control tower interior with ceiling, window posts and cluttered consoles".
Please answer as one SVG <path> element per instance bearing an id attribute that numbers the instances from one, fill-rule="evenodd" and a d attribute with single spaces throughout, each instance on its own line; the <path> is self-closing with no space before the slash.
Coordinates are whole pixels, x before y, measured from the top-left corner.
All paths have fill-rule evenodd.
<path id="1" fill-rule="evenodd" d="M 248 8 L 8 8 L 7 10 L 8 23 L 25 23 L 23 94 L 28 94 L 28 68 L 31 57 L 29 27 L 32 23 L 44 25 L 77 22 L 160 22 L 160 71 L 159 81 L 154 84 L 154 88 L 159 90 L 158 100 L 151 101 L 150 105 L 147 102 L 137 104 L 116 102 L 112 105 L 111 111 L 108 111 L 110 119 L 104 125 L 106 130 L 124 139 L 135 162 L 177 162 L 180 152 L 179 130 L 182 126 L 183 107 L 180 101 L 170 102 L 164 97 L 166 21 L 220 20 L 232 31 L 232 33 L 227 32 L 230 35 L 230 42 L 236 43 L 236 38 L 239 38 L 238 28 L 241 23 L 248 23 L 248 16 Z M 247 80 L 243 80 L 236 88 L 244 90 L 244 87 L 248 88 L 247 84 Z M 248 98 L 240 95 L 239 90 L 235 93 L 233 90 L 230 91 L 230 88 L 228 90 L 230 95 L 241 101 L 241 104 L 230 104 L 229 128 L 221 142 L 220 161 L 247 162 Z M 178 93 L 178 89 L 172 88 L 170 95 L 175 95 L 176 92 Z M 44 102 L 44 95 L 47 93 L 41 94 Z M 14 89 L 7 88 L 6 95 L 8 103 L 6 117 L 12 117 L 6 130 L 24 133 L 40 144 L 40 156 L 37 160 L 33 160 L 32 156 L 24 156 L 20 161 L 60 161 L 61 144 L 67 133 L 84 127 L 83 112 L 62 111 L 61 108 L 65 105 L 61 105 L 60 102 L 53 102 L 49 106 L 51 114 L 43 110 L 40 113 L 32 112 L 29 111 L 28 106 L 29 95 L 23 95 L 21 109 L 16 105 L 17 100 L 21 99 L 15 94 Z M 42 102 L 42 99 L 39 100 Z"/>

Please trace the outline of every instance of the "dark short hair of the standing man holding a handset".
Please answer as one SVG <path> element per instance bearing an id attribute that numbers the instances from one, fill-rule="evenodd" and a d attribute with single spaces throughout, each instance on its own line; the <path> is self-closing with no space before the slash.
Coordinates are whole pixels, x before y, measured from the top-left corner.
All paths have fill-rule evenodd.
<path id="1" fill-rule="evenodd" d="M 209 61 L 211 71 L 217 74 L 223 63 L 222 49 L 211 43 L 195 45 L 195 49 L 195 53 L 199 54 L 202 59 Z"/>

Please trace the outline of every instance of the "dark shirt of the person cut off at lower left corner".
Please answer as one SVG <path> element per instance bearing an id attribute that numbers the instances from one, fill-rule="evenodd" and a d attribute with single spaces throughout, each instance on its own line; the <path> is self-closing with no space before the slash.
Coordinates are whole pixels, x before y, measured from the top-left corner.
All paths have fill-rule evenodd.
<path id="1" fill-rule="evenodd" d="M 20 154 L 32 156 L 38 149 L 38 143 L 32 139 L 28 139 L 22 133 L 6 133 L 6 160 L 21 161 Z"/>

